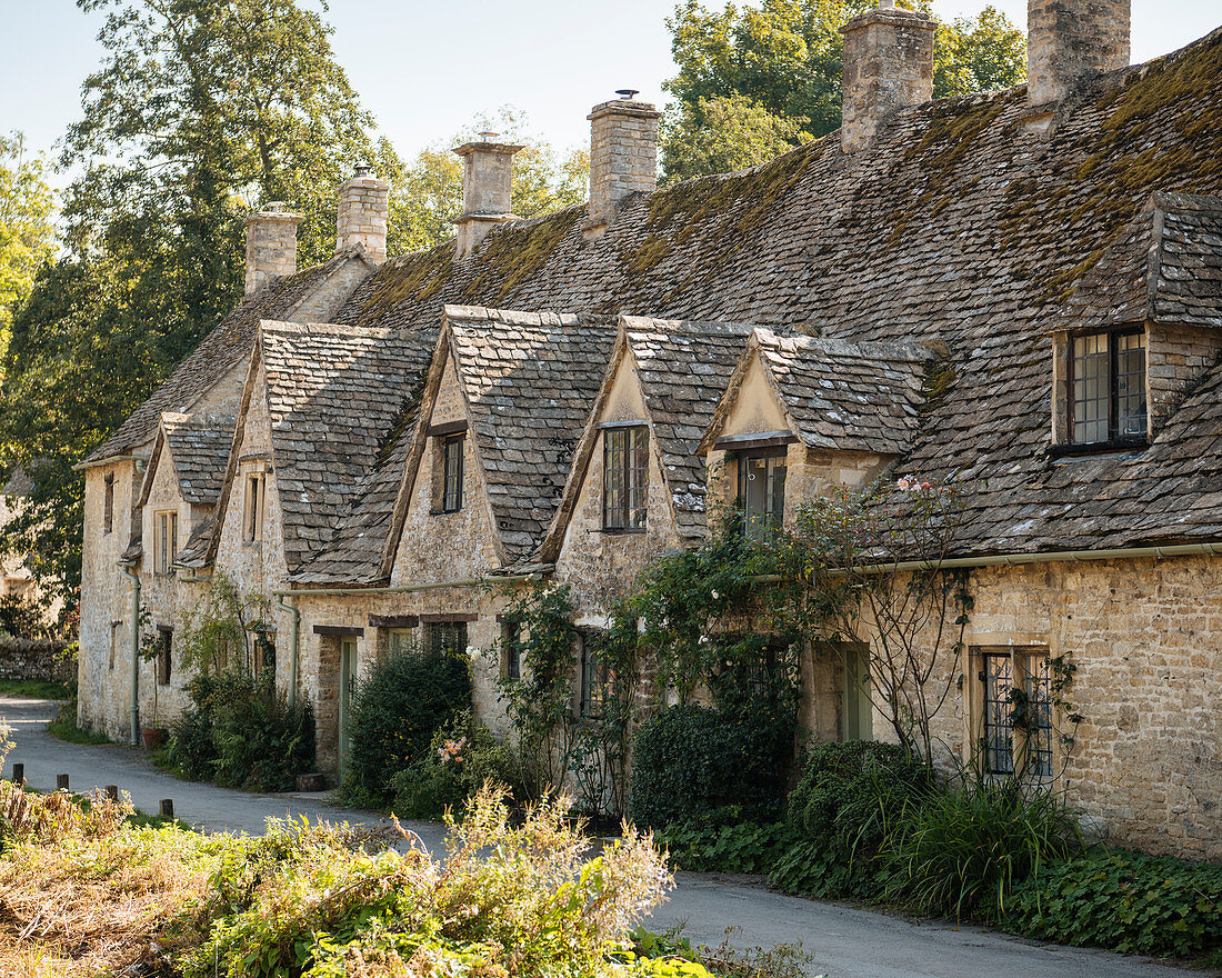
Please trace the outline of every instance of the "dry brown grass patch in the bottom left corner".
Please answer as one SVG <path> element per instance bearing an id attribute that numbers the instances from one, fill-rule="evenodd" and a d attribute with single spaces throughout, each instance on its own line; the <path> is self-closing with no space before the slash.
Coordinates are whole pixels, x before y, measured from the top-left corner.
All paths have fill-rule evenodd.
<path id="1" fill-rule="evenodd" d="M 127 802 L 5 785 L 11 848 L 0 861 L 0 974 L 77 978 L 156 957 L 159 932 L 203 894 L 200 837 L 132 829 Z"/>

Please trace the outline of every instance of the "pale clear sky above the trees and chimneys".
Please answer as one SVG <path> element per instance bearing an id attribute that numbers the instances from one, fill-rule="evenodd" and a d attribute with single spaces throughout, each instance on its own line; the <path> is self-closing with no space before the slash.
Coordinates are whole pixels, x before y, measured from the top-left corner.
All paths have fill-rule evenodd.
<path id="1" fill-rule="evenodd" d="M 309 0 L 306 0 L 309 2 Z M 993 0 L 1026 23 L 1026 0 Z M 705 6 L 723 0 L 705 0 Z M 985 0 L 935 0 L 975 16 Z M 635 88 L 664 103 L 675 73 L 666 17 L 675 0 L 330 0 L 336 57 L 404 156 L 448 139 L 501 105 L 560 149 L 589 137 L 590 106 Z M 0 132 L 50 150 L 81 115 L 81 82 L 101 59 L 101 15 L 75 0 L 0 0 Z M 1220 0 L 1133 0 L 1133 60 L 1146 61 L 1222 24 Z"/>

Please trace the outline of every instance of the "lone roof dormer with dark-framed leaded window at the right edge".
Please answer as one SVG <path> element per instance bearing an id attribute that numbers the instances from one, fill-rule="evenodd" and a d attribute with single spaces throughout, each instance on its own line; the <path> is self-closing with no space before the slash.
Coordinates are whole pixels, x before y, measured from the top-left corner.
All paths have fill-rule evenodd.
<path id="1" fill-rule="evenodd" d="M 1222 198 L 1155 193 L 1052 335 L 1053 454 L 1141 447 L 1222 355 Z"/>

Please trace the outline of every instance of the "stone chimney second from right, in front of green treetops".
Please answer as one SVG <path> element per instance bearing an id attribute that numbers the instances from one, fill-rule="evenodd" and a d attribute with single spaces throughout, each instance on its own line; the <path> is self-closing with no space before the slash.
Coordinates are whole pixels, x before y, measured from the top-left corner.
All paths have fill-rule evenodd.
<path id="1" fill-rule="evenodd" d="M 1033 0 L 1034 2 L 1034 0 Z M 924 13 L 879 0 L 841 28 L 844 35 L 844 112 L 841 148 L 869 145 L 887 119 L 934 97 L 934 33 Z"/>

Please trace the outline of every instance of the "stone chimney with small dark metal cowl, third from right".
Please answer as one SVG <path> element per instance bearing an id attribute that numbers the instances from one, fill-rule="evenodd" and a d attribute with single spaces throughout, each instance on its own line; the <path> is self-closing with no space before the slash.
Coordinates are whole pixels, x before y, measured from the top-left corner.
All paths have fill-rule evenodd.
<path id="1" fill-rule="evenodd" d="M 613 221 L 620 202 L 637 191 L 657 189 L 657 120 L 661 112 L 638 101 L 631 88 L 595 105 L 590 120 L 590 209 L 583 229 L 589 240 Z"/>

